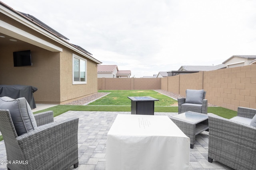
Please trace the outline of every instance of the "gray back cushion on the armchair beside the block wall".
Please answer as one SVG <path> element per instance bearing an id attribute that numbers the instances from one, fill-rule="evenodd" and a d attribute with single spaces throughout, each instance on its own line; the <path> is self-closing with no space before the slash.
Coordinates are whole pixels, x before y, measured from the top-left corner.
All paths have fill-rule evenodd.
<path id="1" fill-rule="evenodd" d="M 204 90 L 186 90 L 185 103 L 202 104 Z"/>

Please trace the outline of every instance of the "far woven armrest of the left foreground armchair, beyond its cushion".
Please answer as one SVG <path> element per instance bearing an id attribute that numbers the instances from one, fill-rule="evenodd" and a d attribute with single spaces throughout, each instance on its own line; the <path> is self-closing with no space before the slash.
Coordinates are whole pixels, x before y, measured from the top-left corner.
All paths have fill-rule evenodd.
<path id="1" fill-rule="evenodd" d="M 36 119 L 36 125 L 37 126 L 52 123 L 54 121 L 53 111 L 45 111 L 45 112 L 42 112 L 42 113 L 36 113 L 36 114 L 34 114 L 34 117 Z"/>

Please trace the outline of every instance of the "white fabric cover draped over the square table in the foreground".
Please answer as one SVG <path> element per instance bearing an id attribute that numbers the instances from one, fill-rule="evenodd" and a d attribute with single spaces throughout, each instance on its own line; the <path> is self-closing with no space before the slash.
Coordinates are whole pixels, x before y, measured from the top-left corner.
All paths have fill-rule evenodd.
<path id="1" fill-rule="evenodd" d="M 117 115 L 107 135 L 106 170 L 188 170 L 190 139 L 159 115 Z"/>

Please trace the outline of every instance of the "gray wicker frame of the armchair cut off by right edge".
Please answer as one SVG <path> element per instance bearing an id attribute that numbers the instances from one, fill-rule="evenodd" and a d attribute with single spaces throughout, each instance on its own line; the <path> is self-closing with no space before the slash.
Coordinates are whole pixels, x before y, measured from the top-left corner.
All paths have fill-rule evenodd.
<path id="1" fill-rule="evenodd" d="M 255 114 L 256 109 L 238 107 L 238 116 L 252 119 Z M 236 170 L 255 169 L 256 127 L 217 115 L 208 117 L 208 161 L 215 160 Z"/>

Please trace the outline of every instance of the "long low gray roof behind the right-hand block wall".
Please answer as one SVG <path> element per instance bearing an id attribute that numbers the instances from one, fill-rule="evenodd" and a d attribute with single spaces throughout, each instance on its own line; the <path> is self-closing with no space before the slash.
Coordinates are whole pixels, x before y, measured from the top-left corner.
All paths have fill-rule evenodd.
<path id="1" fill-rule="evenodd" d="M 226 68 L 225 64 L 219 64 L 216 66 L 181 66 L 178 71 L 211 71 L 211 70 L 218 70 L 221 68 Z"/>

